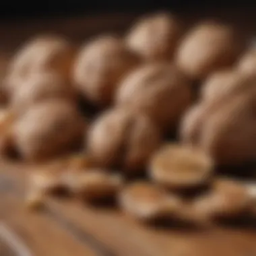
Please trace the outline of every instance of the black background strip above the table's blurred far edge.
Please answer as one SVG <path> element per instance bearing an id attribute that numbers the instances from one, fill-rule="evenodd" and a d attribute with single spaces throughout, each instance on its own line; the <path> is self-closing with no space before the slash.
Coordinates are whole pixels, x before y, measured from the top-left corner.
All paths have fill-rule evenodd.
<path id="1" fill-rule="evenodd" d="M 154 1 L 118 1 L 118 0 L 0 0 L 0 18 L 31 18 L 49 16 L 84 15 L 86 13 L 108 12 L 139 12 L 156 9 L 173 9 L 179 11 L 184 7 L 193 8 L 234 8 L 241 5 L 256 5 L 253 1 L 224 1 L 224 0 L 154 0 Z"/>

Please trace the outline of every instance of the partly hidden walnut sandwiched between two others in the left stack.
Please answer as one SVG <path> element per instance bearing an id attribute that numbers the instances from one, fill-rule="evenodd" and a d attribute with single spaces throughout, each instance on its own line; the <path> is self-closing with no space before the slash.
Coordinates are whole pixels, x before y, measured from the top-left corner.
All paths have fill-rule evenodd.
<path id="1" fill-rule="evenodd" d="M 32 73 L 11 96 L 11 108 L 21 112 L 35 103 L 60 98 L 74 100 L 75 94 L 64 77 L 57 73 Z"/>

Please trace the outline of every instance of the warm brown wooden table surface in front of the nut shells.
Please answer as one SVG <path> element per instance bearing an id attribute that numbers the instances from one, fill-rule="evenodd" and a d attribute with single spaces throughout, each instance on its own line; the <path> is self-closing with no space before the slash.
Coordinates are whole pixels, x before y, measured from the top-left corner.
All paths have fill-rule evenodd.
<path id="1" fill-rule="evenodd" d="M 205 230 L 146 226 L 116 207 L 68 198 L 48 199 L 44 210 L 32 212 L 24 205 L 26 166 L 2 161 L 0 170 L 1 256 L 256 255 L 253 223 Z"/>

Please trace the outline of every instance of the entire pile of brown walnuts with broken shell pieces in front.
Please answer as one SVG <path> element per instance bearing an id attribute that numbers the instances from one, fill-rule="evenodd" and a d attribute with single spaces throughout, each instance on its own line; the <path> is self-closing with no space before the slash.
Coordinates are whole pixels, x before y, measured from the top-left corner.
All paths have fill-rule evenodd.
<path id="1" fill-rule="evenodd" d="M 1 154 L 33 166 L 28 201 L 65 189 L 88 201 L 117 197 L 140 220 L 254 214 L 254 185 L 216 175 L 256 158 L 248 40 L 214 20 L 185 30 L 170 13 L 80 47 L 32 38 L 1 74 L 0 113 Z"/>

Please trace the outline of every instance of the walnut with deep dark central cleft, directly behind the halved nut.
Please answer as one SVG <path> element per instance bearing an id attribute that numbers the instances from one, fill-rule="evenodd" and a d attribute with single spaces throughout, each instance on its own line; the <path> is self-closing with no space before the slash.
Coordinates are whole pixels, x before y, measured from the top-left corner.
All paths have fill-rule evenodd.
<path id="1" fill-rule="evenodd" d="M 160 132 L 146 115 L 117 108 L 92 124 L 88 154 L 100 166 L 121 166 L 132 172 L 145 167 L 160 141 Z"/>

